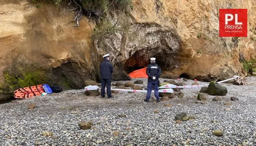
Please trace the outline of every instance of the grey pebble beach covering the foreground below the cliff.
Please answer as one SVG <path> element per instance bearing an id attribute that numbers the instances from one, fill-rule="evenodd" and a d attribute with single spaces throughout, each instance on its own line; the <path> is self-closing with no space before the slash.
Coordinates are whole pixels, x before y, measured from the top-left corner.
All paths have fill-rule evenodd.
<path id="1" fill-rule="evenodd" d="M 131 82 L 136 80 L 146 88 L 146 78 Z M 107 99 L 86 96 L 84 89 L 13 100 L 0 104 L 0 146 L 256 146 L 255 83 L 256 77 L 246 77 L 242 86 L 221 83 L 228 93 L 220 101 L 208 94 L 199 101 L 200 88 L 182 89 L 184 97 L 160 103 L 154 93 L 146 103 L 146 92 L 119 92 Z M 176 123 L 182 112 L 195 119 Z M 78 126 L 88 121 L 90 129 Z M 215 136 L 215 130 L 223 135 Z"/>

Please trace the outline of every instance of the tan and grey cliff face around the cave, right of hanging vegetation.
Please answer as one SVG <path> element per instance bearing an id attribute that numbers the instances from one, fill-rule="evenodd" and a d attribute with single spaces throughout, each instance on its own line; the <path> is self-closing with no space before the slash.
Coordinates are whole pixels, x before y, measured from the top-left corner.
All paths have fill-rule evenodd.
<path id="1" fill-rule="evenodd" d="M 255 58 L 255 1 L 133 0 L 132 7 L 129 30 L 107 41 L 114 62 L 125 62 L 127 72 L 156 57 L 164 78 L 224 80 L 244 76 L 240 53 L 248 60 Z M 248 37 L 219 37 L 219 8 L 247 8 Z M 110 20 L 114 24 L 118 18 Z"/>

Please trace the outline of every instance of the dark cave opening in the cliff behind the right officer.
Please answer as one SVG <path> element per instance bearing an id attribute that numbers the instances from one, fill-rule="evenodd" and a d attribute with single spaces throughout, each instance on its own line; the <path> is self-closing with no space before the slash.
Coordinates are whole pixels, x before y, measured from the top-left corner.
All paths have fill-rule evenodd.
<path id="1" fill-rule="evenodd" d="M 175 68 L 170 51 L 161 50 L 160 48 L 153 48 L 136 51 L 124 63 L 125 72 L 129 74 L 134 70 L 147 67 L 150 64 L 150 58 L 152 57 L 156 58 L 156 64 L 160 66 L 162 71 L 172 70 Z"/>

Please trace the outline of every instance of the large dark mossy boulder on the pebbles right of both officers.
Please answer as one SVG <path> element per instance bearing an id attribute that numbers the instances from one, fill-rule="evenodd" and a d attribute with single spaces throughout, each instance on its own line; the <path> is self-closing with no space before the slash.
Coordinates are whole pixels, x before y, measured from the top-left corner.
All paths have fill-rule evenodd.
<path id="1" fill-rule="evenodd" d="M 221 86 L 217 82 L 210 82 L 207 92 L 209 95 L 226 96 L 228 90 L 226 87 Z"/>

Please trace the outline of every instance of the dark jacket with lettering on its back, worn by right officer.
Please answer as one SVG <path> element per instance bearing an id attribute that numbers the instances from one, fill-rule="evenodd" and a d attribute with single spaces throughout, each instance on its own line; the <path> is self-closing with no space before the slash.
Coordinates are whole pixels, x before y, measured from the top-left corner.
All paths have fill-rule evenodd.
<path id="1" fill-rule="evenodd" d="M 152 62 L 149 64 L 146 68 L 146 74 L 148 75 L 148 82 L 158 82 L 158 77 L 160 76 L 162 70 L 161 68 L 155 63 Z M 155 80 L 153 80 L 153 76 L 156 77 Z"/>

